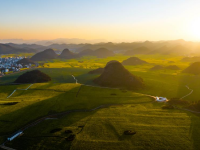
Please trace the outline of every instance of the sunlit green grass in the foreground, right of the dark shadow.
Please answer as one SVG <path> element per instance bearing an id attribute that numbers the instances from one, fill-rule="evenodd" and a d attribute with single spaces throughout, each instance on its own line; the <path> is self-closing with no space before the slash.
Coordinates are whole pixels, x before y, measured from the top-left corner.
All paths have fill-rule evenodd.
<path id="1" fill-rule="evenodd" d="M 194 123 L 200 125 L 198 117 L 156 104 L 110 107 L 92 115 L 71 149 L 198 149 Z M 126 130 L 137 133 L 124 135 Z"/>

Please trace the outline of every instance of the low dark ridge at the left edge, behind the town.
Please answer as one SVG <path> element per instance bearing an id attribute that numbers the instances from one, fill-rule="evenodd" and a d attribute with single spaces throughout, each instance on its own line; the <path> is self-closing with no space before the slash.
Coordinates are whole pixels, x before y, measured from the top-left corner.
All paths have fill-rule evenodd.
<path id="1" fill-rule="evenodd" d="M 0 44 L 0 54 L 36 53 L 38 51 L 31 48 L 18 48 L 8 44 Z"/>

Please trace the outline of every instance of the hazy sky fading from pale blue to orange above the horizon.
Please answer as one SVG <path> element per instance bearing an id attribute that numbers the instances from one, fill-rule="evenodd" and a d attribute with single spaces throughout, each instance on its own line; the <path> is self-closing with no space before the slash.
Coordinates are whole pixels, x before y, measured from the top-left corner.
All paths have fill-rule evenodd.
<path id="1" fill-rule="evenodd" d="M 200 0 L 0 0 L 11 38 L 200 41 Z"/>

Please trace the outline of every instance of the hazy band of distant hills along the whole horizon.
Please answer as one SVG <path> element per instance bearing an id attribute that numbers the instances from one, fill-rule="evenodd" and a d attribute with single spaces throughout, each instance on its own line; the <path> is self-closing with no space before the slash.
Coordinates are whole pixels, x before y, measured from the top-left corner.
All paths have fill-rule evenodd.
<path id="1" fill-rule="evenodd" d="M 200 43 L 188 42 L 184 40 L 174 41 L 158 41 L 158 42 L 132 42 L 132 43 L 37 43 L 37 44 L 15 44 L 6 43 L 0 44 L 1 54 L 10 53 L 36 53 L 45 49 L 54 49 L 56 51 L 62 51 L 63 49 L 70 49 L 72 52 L 80 53 L 80 55 L 88 54 L 98 55 L 97 49 L 101 48 L 108 49 L 113 53 L 120 53 L 124 55 L 135 55 L 135 54 L 177 54 L 177 55 L 189 55 L 192 53 L 200 52 Z M 104 49 L 101 49 L 102 51 Z M 94 52 L 96 51 L 96 52 Z M 92 54 L 93 53 L 93 54 Z"/>

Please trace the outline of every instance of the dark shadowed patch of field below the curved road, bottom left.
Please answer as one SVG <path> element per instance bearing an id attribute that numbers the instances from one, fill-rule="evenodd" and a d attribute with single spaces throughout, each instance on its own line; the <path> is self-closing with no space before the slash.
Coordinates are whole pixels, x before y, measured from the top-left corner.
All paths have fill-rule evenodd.
<path id="1" fill-rule="evenodd" d="M 84 114 L 69 114 L 68 116 L 65 116 L 63 118 L 60 118 L 58 120 L 49 120 L 45 121 L 39 125 L 36 125 L 35 127 L 30 128 L 25 132 L 25 134 L 13 140 L 11 143 L 8 143 L 7 145 L 9 147 L 13 147 L 16 149 L 70 149 L 71 142 L 66 141 L 65 138 L 68 137 L 70 134 L 65 134 L 62 130 L 60 134 L 58 133 L 50 133 L 51 130 L 56 128 L 62 128 L 65 129 L 66 127 L 75 125 L 85 125 L 87 123 L 87 117 L 92 115 L 93 112 L 84 113 Z M 86 121 L 82 121 L 86 120 Z M 69 128 L 70 129 L 70 128 Z M 79 131 L 77 131 L 77 129 Z M 73 130 L 73 134 L 78 134 L 81 129 L 77 128 Z M 50 136 L 57 136 L 57 137 L 50 137 Z M 51 147 L 49 147 L 51 145 Z"/>

